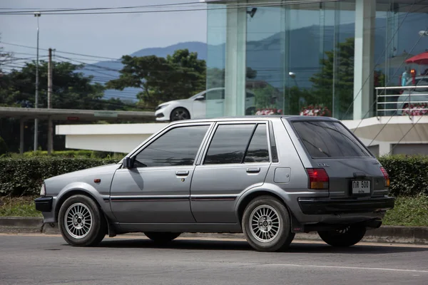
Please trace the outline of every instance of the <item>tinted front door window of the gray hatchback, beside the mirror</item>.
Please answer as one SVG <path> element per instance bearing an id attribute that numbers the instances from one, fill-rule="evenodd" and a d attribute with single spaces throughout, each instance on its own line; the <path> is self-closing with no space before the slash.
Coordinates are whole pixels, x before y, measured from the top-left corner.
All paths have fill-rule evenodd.
<path id="1" fill-rule="evenodd" d="M 193 165 L 209 125 L 173 128 L 136 156 L 136 167 Z"/>

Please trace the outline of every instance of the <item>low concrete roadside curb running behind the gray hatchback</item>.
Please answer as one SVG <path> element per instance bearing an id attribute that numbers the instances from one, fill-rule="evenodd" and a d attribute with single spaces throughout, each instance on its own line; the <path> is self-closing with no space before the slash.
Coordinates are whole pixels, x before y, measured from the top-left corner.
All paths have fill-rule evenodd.
<path id="1" fill-rule="evenodd" d="M 0 217 L 0 233 L 3 234 L 60 234 L 58 225 L 51 227 L 43 223 L 41 217 Z M 134 234 L 134 233 L 133 233 Z M 118 236 L 120 237 L 120 236 Z M 181 237 L 212 239 L 245 239 L 242 233 L 184 233 Z M 296 240 L 321 241 L 316 232 L 299 233 Z M 367 231 L 362 242 L 379 242 L 389 244 L 422 244 L 428 245 L 428 227 L 382 226 Z"/>

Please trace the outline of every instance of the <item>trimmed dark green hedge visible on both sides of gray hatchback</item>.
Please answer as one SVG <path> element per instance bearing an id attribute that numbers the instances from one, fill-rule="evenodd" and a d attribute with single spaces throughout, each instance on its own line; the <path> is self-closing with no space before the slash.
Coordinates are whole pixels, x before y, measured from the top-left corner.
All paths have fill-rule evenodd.
<path id="1" fill-rule="evenodd" d="M 58 153 L 58 152 L 57 152 Z M 76 153 L 76 152 L 73 152 Z M 88 153 L 83 150 L 81 153 Z M 0 196 L 37 195 L 41 181 L 67 172 L 118 162 L 120 158 L 12 156 L 0 157 Z M 391 194 L 396 197 L 428 195 L 428 156 L 387 156 L 379 161 L 389 173 Z"/>

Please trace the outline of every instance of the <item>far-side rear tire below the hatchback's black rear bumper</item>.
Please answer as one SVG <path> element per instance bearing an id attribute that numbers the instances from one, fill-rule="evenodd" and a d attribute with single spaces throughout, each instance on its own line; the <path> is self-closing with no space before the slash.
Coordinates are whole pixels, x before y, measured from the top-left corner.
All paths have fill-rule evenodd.
<path id="1" fill-rule="evenodd" d="M 350 225 L 344 229 L 318 232 L 320 238 L 332 247 L 351 247 L 365 236 L 366 228 Z"/>

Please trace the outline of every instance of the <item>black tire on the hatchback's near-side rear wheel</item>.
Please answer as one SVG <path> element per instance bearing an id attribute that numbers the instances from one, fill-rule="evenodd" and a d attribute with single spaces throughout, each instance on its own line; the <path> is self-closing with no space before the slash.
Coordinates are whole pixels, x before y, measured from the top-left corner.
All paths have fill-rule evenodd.
<path id="1" fill-rule="evenodd" d="M 258 234 L 264 233 L 260 230 L 259 225 L 255 225 L 256 229 L 251 228 L 251 220 L 257 218 L 258 214 L 260 214 L 258 211 L 263 209 L 269 209 L 270 214 L 267 213 L 265 216 L 260 216 L 258 221 L 262 222 L 260 227 L 263 228 L 263 231 L 267 230 L 268 233 L 272 233 L 269 239 L 267 239 L 267 233 L 265 233 L 266 238 L 264 235 L 262 237 L 258 236 Z M 277 217 L 277 219 L 265 219 L 265 217 L 268 218 L 269 216 Z M 271 226 L 269 225 L 269 221 L 272 221 Z M 263 226 L 264 222 L 267 222 L 266 227 Z M 278 199 L 271 196 L 260 196 L 253 199 L 245 207 L 242 225 L 245 239 L 247 239 L 251 247 L 259 252 L 277 252 L 287 249 L 295 237 L 295 234 L 291 232 L 290 214 L 287 211 L 287 207 Z M 277 227 L 276 232 L 275 227 Z"/>

